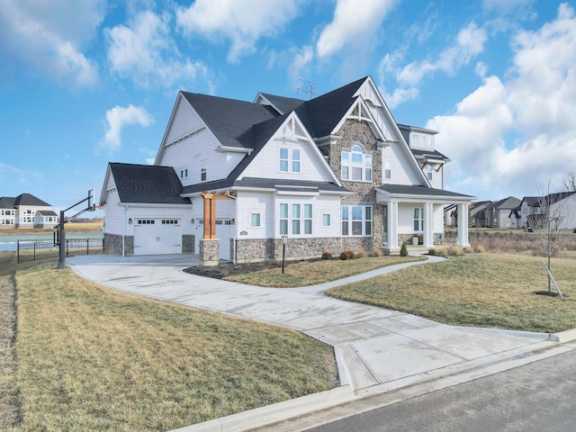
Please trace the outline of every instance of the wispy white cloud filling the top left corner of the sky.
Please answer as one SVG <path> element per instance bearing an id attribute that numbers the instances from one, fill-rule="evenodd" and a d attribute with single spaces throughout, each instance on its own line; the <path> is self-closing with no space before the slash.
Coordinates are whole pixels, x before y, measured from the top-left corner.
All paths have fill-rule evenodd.
<path id="1" fill-rule="evenodd" d="M 0 7 L 0 58 L 47 74 L 61 84 L 94 85 L 98 70 L 81 47 L 93 40 L 103 20 L 104 0 L 5 0 Z"/>

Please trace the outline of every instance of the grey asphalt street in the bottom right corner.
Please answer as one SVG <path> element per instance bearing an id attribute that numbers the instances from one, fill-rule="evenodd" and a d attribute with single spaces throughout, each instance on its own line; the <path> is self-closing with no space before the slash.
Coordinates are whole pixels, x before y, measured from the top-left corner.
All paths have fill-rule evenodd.
<path id="1" fill-rule="evenodd" d="M 576 352 L 308 429 L 309 432 L 576 430 Z"/>

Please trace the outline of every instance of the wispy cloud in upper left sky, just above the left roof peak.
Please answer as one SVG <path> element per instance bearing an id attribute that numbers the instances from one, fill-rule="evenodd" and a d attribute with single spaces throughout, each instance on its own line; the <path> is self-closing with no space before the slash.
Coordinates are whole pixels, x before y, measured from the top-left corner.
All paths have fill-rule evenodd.
<path id="1" fill-rule="evenodd" d="M 208 69 L 201 62 L 180 58 L 170 36 L 170 17 L 142 12 L 128 26 L 105 29 L 108 60 L 112 72 L 130 78 L 136 85 L 170 87 L 181 80 L 206 77 Z"/>

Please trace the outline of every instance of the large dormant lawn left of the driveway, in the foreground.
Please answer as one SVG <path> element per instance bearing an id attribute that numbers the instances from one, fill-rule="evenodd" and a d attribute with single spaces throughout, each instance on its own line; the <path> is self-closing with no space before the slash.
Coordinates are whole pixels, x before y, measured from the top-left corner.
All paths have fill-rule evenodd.
<path id="1" fill-rule="evenodd" d="M 333 350 L 317 340 L 113 292 L 55 266 L 16 272 L 15 430 L 168 430 L 338 385 Z"/>

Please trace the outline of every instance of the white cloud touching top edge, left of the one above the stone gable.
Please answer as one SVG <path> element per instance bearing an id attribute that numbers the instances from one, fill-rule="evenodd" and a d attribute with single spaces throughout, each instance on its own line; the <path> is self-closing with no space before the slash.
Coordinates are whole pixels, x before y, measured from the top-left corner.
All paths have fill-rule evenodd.
<path id="1" fill-rule="evenodd" d="M 200 34 L 209 39 L 231 41 L 228 61 L 256 50 L 258 39 L 275 36 L 298 12 L 302 0 L 196 0 L 180 7 L 176 22 L 187 35 Z"/>

